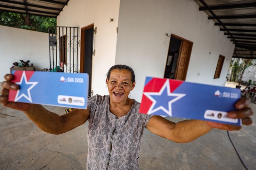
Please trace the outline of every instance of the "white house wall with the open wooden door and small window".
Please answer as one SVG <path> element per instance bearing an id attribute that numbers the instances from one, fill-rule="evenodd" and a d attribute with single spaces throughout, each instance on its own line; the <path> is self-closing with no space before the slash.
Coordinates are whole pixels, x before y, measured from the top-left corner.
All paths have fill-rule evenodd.
<path id="1" fill-rule="evenodd" d="M 193 0 L 121 0 L 115 63 L 135 71 L 131 98 L 141 100 L 146 76 L 163 78 L 170 41 L 166 33 L 194 42 L 186 81 L 225 85 L 235 46 L 198 9 Z M 225 62 L 220 78 L 213 79 L 220 54 Z"/>

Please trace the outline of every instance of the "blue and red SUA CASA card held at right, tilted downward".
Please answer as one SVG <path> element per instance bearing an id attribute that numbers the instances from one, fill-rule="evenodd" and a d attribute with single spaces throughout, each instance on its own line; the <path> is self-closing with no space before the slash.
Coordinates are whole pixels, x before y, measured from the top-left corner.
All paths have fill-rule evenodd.
<path id="1" fill-rule="evenodd" d="M 240 96 L 240 89 L 147 77 L 139 112 L 241 126 L 227 116 Z"/>

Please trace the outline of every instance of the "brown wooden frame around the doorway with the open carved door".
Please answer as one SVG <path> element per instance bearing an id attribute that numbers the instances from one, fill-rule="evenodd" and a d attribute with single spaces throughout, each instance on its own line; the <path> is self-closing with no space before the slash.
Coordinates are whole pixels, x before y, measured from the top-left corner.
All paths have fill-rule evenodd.
<path id="1" fill-rule="evenodd" d="M 187 72 L 188 72 L 188 65 L 189 65 L 190 56 L 191 56 L 192 47 L 193 47 L 193 42 L 192 42 L 192 41 L 189 41 L 189 40 L 187 40 L 187 39 L 185 39 L 185 38 L 182 38 L 182 37 L 180 37 L 180 36 L 178 36 L 178 35 L 171 34 L 171 36 L 170 36 L 170 41 L 169 41 L 169 46 L 168 46 L 168 51 L 169 51 L 169 48 L 170 48 L 170 45 L 171 45 L 171 39 L 172 39 L 172 37 L 181 40 L 177 63 L 180 62 L 180 55 L 181 55 L 180 53 L 181 53 L 181 48 L 182 48 L 183 41 L 186 41 L 186 42 L 188 42 L 188 43 L 190 44 L 189 49 L 188 49 L 188 58 L 187 58 L 187 62 L 186 62 L 186 67 L 185 67 L 184 75 L 183 75 L 183 79 L 186 80 Z M 167 52 L 167 59 L 168 59 L 168 52 Z M 166 62 L 167 62 L 167 61 L 166 61 Z M 178 64 L 176 64 L 174 79 L 177 78 L 177 66 L 178 66 Z M 166 63 L 165 63 L 165 69 L 166 69 Z M 165 70 L 165 69 L 164 69 L 164 70 Z"/>

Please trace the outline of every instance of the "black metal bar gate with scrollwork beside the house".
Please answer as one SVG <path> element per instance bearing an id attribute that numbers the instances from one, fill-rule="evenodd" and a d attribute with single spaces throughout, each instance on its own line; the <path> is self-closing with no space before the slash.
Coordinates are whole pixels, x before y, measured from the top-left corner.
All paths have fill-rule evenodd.
<path id="1" fill-rule="evenodd" d="M 78 27 L 49 26 L 50 71 L 78 73 Z"/>

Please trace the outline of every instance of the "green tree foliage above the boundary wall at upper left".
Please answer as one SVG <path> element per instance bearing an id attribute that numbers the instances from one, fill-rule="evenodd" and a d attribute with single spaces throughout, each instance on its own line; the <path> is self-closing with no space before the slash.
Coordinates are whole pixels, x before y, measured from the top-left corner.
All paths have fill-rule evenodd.
<path id="1" fill-rule="evenodd" d="M 0 11 L 0 25 L 48 33 L 49 26 L 56 26 L 56 18 L 17 14 Z"/>

